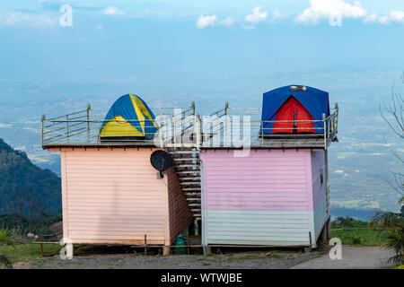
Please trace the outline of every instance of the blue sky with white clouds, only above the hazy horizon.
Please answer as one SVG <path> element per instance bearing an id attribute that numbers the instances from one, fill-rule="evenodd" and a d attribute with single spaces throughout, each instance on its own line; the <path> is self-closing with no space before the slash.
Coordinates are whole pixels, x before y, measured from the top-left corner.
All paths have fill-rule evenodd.
<path id="1" fill-rule="evenodd" d="M 329 2 L 330 8 L 316 10 L 319 1 Z M 73 7 L 72 27 L 58 23 L 62 4 Z M 341 26 L 329 25 L 333 7 L 342 11 Z M 359 12 L 350 12 L 355 7 L 361 7 Z M 299 22 L 307 9 L 314 16 Z M 379 22 L 391 12 L 403 14 Z M 378 18 L 366 22 L 373 14 Z M 192 82 L 199 88 L 205 81 L 220 86 L 239 77 L 291 71 L 392 71 L 404 64 L 403 28 L 402 1 L 362 1 L 360 6 L 342 0 L 2 1 L 0 78 L 78 83 L 148 79 Z"/>

